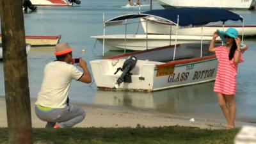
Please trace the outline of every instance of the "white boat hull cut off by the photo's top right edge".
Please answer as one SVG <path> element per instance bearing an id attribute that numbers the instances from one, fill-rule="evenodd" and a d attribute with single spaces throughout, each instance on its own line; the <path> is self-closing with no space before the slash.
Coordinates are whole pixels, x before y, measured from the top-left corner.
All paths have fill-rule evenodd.
<path id="1" fill-rule="evenodd" d="M 228 10 L 250 10 L 255 0 L 156 0 L 164 8 L 224 8 Z"/>

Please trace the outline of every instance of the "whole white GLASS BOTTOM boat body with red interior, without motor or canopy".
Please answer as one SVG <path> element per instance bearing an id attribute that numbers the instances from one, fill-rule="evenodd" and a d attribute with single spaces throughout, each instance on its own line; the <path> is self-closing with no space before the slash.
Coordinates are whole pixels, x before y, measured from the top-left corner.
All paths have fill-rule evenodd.
<path id="1" fill-rule="evenodd" d="M 97 87 L 100 90 L 115 90 L 116 81 L 122 74 L 114 74 L 115 71 L 122 67 L 127 56 L 136 56 L 138 61 L 131 71 L 132 83 L 121 83 L 118 89 L 152 92 L 213 81 L 216 76 L 217 60 L 214 54 L 209 56 L 208 46 L 204 46 L 202 58 L 200 44 L 180 44 L 177 45 L 177 61 L 171 61 L 174 46 L 168 46 L 94 60 L 90 61 L 90 65 Z"/>

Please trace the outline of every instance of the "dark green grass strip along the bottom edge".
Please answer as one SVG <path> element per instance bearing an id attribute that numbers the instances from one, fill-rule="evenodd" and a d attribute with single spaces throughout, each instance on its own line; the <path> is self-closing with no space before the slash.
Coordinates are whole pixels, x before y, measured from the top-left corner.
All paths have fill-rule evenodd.
<path id="1" fill-rule="evenodd" d="M 234 143 L 239 129 L 207 130 L 196 127 L 33 129 L 36 144 L 114 143 Z M 8 129 L 0 128 L 0 143 L 8 143 Z"/>

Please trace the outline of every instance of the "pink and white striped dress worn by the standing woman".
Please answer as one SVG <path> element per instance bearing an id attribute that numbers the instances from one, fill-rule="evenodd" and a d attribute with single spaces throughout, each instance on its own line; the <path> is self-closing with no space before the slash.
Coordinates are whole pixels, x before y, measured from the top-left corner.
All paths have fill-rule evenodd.
<path id="1" fill-rule="evenodd" d="M 229 51 L 225 46 L 216 47 L 215 54 L 218 59 L 218 70 L 213 91 L 225 95 L 236 95 L 237 65 L 234 59 L 228 59 Z M 240 62 L 242 61 L 244 60 L 241 54 Z"/>

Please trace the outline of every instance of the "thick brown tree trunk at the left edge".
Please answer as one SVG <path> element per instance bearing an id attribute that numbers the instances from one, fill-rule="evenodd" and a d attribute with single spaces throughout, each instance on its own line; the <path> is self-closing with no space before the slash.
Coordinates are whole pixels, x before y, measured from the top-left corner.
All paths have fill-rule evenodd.
<path id="1" fill-rule="evenodd" d="M 0 0 L 4 86 L 10 144 L 32 144 L 22 1 Z"/>

